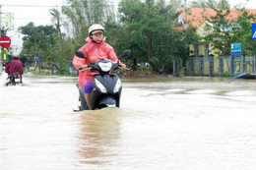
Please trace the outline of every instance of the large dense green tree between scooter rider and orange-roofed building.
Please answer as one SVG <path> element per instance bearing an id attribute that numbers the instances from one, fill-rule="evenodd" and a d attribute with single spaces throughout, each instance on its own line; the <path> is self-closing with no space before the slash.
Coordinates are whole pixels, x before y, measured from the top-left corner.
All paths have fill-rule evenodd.
<path id="1" fill-rule="evenodd" d="M 171 63 L 170 36 L 173 32 L 173 12 L 164 1 L 121 1 L 119 12 L 125 36 L 132 48 L 135 61 L 150 63 L 151 71 L 165 72 Z M 176 16 L 175 16 L 176 17 Z"/>

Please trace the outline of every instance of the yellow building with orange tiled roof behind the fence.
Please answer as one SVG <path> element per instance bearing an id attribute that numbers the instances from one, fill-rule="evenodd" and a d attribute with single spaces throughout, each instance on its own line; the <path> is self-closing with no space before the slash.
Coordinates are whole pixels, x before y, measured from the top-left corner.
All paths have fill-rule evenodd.
<path id="1" fill-rule="evenodd" d="M 256 15 L 256 10 L 248 9 L 247 10 L 249 14 L 255 14 Z M 213 27 L 213 24 L 206 21 L 206 18 L 210 18 L 213 16 L 216 16 L 217 13 L 211 8 L 189 8 L 186 10 L 186 20 L 187 20 L 187 25 L 185 26 L 185 12 L 184 8 L 179 8 L 178 12 L 180 12 L 180 16 L 178 17 L 178 20 L 180 23 L 183 23 L 182 28 L 197 28 L 196 33 L 200 37 L 204 37 L 207 35 L 207 27 Z M 236 9 L 230 9 L 229 15 L 227 15 L 226 19 L 228 21 L 233 21 L 237 19 L 239 16 L 239 12 Z M 211 30 L 210 30 L 211 31 Z M 203 39 L 203 38 L 202 38 Z M 213 47 L 213 44 L 206 43 L 204 40 L 200 42 L 200 45 L 194 46 L 191 44 L 189 46 L 190 51 L 193 51 L 190 54 L 190 57 L 195 58 L 194 60 L 194 65 L 193 69 L 195 72 L 195 75 L 210 75 L 209 72 L 210 66 L 209 66 L 209 56 L 213 56 L 213 62 L 214 62 L 214 67 L 212 68 L 214 73 L 224 73 L 224 72 L 229 72 L 230 71 L 230 57 L 225 56 L 219 56 L 220 50 L 215 49 Z M 240 57 L 241 58 L 241 57 Z M 241 59 L 234 58 L 234 66 L 233 70 L 234 72 L 241 73 Z M 256 62 L 255 58 L 253 58 L 254 62 Z M 204 63 L 202 63 L 204 62 Z M 220 63 L 221 62 L 221 63 Z M 221 68 L 220 68 L 221 67 Z M 247 62 L 246 64 L 246 72 L 254 72 L 255 70 L 255 64 L 253 65 L 252 62 Z M 202 71 L 203 70 L 203 71 Z M 203 72 L 203 73 L 202 73 Z M 193 74 L 192 74 L 193 75 Z"/>

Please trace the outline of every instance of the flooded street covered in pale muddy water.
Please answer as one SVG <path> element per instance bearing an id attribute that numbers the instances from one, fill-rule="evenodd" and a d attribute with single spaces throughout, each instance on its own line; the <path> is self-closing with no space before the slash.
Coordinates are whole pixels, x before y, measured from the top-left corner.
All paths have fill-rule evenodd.
<path id="1" fill-rule="evenodd" d="M 0 77 L 1 170 L 255 170 L 256 81 L 124 79 L 120 108 L 73 112 L 77 78 Z"/>

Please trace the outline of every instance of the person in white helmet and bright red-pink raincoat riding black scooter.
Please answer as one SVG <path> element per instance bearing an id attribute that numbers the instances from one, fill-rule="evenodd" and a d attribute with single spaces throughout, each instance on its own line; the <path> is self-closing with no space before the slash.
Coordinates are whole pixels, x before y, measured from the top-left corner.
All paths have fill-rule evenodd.
<path id="1" fill-rule="evenodd" d="M 82 59 L 78 56 L 74 56 L 73 65 L 76 69 L 86 69 L 88 68 L 89 63 L 95 63 L 100 59 L 110 59 L 114 62 L 118 62 L 118 58 L 115 54 L 114 48 L 109 44 L 104 42 L 104 28 L 101 25 L 93 25 L 89 28 L 88 37 L 86 38 L 88 42 L 82 46 L 79 51 L 84 52 L 85 56 L 88 59 Z M 126 65 L 119 61 L 122 69 L 126 69 Z M 93 83 L 93 76 L 96 72 L 91 72 L 90 70 L 83 71 L 79 73 L 78 83 L 84 88 L 86 101 L 90 109 L 92 109 L 91 104 L 91 92 L 94 89 L 95 85 Z"/>

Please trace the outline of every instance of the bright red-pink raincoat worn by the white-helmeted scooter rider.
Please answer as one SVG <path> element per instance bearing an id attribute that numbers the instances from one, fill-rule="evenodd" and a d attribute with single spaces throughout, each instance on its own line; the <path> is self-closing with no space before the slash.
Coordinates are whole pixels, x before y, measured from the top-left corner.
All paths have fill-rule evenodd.
<path id="1" fill-rule="evenodd" d="M 86 39 L 87 44 L 82 46 L 79 51 L 83 51 L 85 55 L 90 59 L 91 63 L 95 63 L 99 59 L 110 59 L 114 62 L 118 61 L 118 58 L 114 52 L 114 48 L 110 46 L 109 44 L 102 41 L 101 43 L 93 42 L 93 40 L 90 37 L 87 37 Z M 74 56 L 73 58 L 73 65 L 77 70 L 82 65 L 89 65 L 89 60 L 79 58 L 78 56 Z M 78 76 L 78 83 L 79 85 L 84 88 L 87 82 L 92 82 L 93 76 L 96 74 L 96 72 L 91 72 L 90 70 L 80 72 Z"/>

